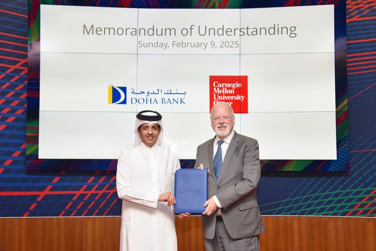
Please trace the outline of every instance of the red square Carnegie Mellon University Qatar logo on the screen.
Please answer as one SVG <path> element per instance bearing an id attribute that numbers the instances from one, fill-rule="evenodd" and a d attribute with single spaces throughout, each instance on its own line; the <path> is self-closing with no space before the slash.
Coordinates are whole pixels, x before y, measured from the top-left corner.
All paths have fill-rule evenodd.
<path id="1" fill-rule="evenodd" d="M 234 113 L 248 113 L 248 76 L 209 76 L 209 95 L 209 112 L 222 101 Z"/>

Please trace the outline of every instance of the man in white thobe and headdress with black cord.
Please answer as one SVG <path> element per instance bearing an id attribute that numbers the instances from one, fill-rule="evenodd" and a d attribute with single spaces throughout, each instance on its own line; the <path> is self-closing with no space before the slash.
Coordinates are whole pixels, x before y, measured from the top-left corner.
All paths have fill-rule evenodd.
<path id="1" fill-rule="evenodd" d="M 120 251 L 177 251 L 173 205 L 176 154 L 162 141 L 162 116 L 136 116 L 135 148 L 118 159 L 116 187 L 123 200 Z"/>

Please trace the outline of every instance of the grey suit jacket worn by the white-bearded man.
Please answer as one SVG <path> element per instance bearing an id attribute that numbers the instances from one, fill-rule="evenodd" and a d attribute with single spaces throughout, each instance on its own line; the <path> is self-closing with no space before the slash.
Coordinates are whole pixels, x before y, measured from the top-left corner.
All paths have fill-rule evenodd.
<path id="1" fill-rule="evenodd" d="M 217 196 L 223 206 L 224 225 L 233 239 L 265 232 L 256 199 L 261 172 L 257 140 L 235 132 L 224 156 L 217 184 L 213 170 L 214 139 L 199 145 L 196 155 L 196 166 L 203 164 L 204 168 L 209 168 L 208 199 Z M 215 218 L 215 213 L 201 216 L 206 239 L 214 238 Z"/>

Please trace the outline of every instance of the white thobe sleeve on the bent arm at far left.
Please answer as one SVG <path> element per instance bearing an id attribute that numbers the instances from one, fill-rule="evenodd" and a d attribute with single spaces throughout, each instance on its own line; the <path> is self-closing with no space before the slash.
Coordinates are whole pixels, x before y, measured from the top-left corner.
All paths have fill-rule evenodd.
<path id="1" fill-rule="evenodd" d="M 159 195 L 133 189 L 131 181 L 129 156 L 121 152 L 116 171 L 116 188 L 119 198 L 147 207 L 157 208 Z"/>

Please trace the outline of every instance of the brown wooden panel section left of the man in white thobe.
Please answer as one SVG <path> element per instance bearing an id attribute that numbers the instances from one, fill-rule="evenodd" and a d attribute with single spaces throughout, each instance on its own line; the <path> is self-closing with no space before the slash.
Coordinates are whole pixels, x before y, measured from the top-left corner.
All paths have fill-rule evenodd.
<path id="1" fill-rule="evenodd" d="M 0 218 L 0 251 L 114 251 L 120 217 Z"/>

